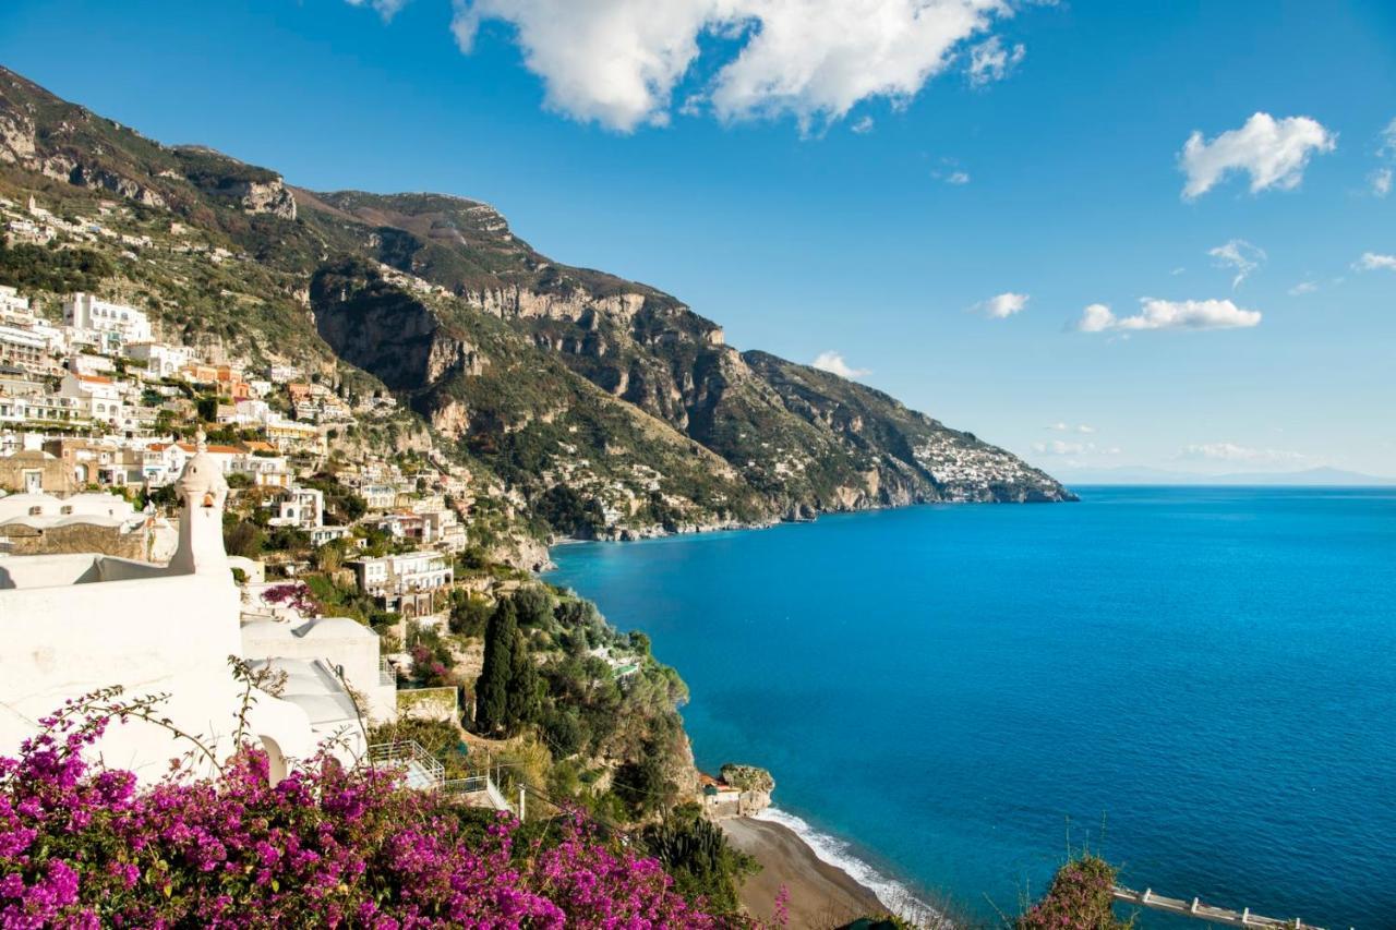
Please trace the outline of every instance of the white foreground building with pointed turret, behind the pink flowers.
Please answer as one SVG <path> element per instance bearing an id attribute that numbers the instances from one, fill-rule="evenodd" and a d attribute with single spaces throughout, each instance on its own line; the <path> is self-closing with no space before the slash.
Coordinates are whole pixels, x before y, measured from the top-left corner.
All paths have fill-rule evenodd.
<path id="1" fill-rule="evenodd" d="M 107 686 L 124 686 L 127 698 L 169 694 L 161 714 L 174 726 L 202 735 L 218 757 L 233 748 L 243 684 L 229 656 L 246 652 L 223 552 L 228 483 L 200 447 L 176 483 L 180 535 L 168 566 L 91 553 L 0 557 L 0 753 L 14 754 L 64 701 Z M 335 669 L 322 659 L 276 662 L 295 687 L 258 693 L 247 709 L 272 778 L 336 733 L 349 739 L 346 761 L 362 754 L 364 733 Z M 131 721 L 92 751 L 152 782 L 186 750 L 168 729 Z"/>

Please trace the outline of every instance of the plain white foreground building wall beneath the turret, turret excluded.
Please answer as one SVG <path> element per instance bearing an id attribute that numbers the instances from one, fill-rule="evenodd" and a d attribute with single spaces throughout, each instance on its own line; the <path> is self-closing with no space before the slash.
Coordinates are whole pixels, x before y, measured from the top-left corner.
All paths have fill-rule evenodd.
<path id="1" fill-rule="evenodd" d="M 242 648 L 237 591 L 218 575 L 148 577 L 158 566 L 81 556 L 0 560 L 0 573 L 25 575 L 0 598 L 0 751 L 13 753 L 36 721 L 68 698 L 120 684 L 126 697 L 169 694 L 165 714 L 181 729 L 221 746 L 236 721 L 242 687 L 228 656 Z M 126 580 L 73 584 L 78 574 Z M 147 575 L 147 577 L 141 577 Z M 32 586 L 47 582 L 47 586 Z M 0 575 L 3 584 L 3 575 Z M 194 606 L 191 609 L 191 606 Z M 281 707 L 279 707 L 281 705 Z M 289 755 L 306 757 L 314 740 L 295 707 L 261 697 L 254 719 Z M 188 748 L 154 725 L 113 726 L 99 744 L 107 765 L 142 781 L 165 774 L 165 761 Z"/>

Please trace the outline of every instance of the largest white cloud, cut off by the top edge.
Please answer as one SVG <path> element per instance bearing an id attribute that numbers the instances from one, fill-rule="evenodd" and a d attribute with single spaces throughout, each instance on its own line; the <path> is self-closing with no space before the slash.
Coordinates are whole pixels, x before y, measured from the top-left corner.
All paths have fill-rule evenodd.
<path id="1" fill-rule="evenodd" d="M 722 120 L 790 115 L 808 131 L 860 101 L 910 101 L 962 42 L 1013 13 L 1009 0 L 454 1 L 462 50 L 483 21 L 511 24 L 549 108 L 618 131 L 667 121 L 704 34 L 740 50 L 694 108 Z"/>

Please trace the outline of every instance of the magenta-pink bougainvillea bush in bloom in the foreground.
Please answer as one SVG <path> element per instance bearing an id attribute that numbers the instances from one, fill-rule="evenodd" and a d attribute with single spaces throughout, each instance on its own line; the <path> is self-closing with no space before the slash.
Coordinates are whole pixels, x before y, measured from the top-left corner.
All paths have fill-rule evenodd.
<path id="1" fill-rule="evenodd" d="M 0 758 L 0 927 L 733 926 L 578 817 L 524 839 L 508 814 L 329 755 L 275 786 L 244 748 L 212 778 L 140 788 L 84 758 L 128 716 L 154 719 L 71 702 Z"/>

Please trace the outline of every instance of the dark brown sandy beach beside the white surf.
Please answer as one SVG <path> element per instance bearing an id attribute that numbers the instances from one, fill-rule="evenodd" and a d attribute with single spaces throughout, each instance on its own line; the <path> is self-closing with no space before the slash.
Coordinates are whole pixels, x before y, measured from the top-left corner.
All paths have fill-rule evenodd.
<path id="1" fill-rule="evenodd" d="M 732 845 L 761 863 L 741 887 L 741 903 L 769 919 L 780 885 L 790 891 L 790 930 L 826 930 L 856 917 L 886 910 L 868 888 L 814 855 L 800 836 L 780 824 L 750 817 L 722 821 Z"/>

